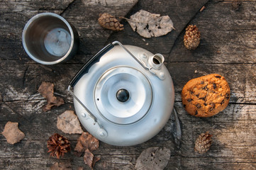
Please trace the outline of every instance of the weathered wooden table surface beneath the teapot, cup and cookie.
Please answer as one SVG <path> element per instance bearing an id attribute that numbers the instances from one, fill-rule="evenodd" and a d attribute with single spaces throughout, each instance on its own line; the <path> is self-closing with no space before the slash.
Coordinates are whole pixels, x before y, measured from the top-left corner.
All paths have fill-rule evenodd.
<path id="1" fill-rule="evenodd" d="M 8 121 L 18 122 L 26 137 L 15 145 L 0 135 L 0 169 L 49 169 L 55 162 L 71 162 L 72 169 L 89 169 L 82 157 L 72 152 L 61 159 L 47 153 L 47 140 L 58 132 L 76 145 L 79 135 L 67 135 L 56 127 L 57 115 L 73 110 L 69 81 L 85 62 L 108 42 L 118 40 L 160 52 L 165 57 L 175 88 L 175 103 L 182 128 L 180 145 L 174 143 L 174 120 L 148 142 L 133 147 L 115 147 L 100 142 L 94 155 L 101 157 L 95 169 L 133 169 L 135 160 L 148 147 L 167 147 L 171 157 L 165 169 L 255 169 L 256 167 L 256 2 L 242 1 L 11 1 L 0 2 L 0 132 Z M 202 6 L 206 8 L 200 11 Z M 113 32 L 97 23 L 99 13 L 129 17 L 144 9 L 172 18 L 176 30 L 159 38 L 142 38 L 126 21 L 125 29 Z M 21 35 L 26 22 L 35 14 L 60 14 L 79 32 L 77 55 L 65 64 L 42 65 L 31 60 L 23 50 Z M 194 50 L 183 44 L 184 30 L 196 24 L 201 43 Z M 228 107 L 211 118 L 195 118 L 184 110 L 181 91 L 196 77 L 218 73 L 226 77 L 230 89 Z M 38 94 L 43 81 L 55 84 L 55 96 L 65 104 L 44 113 L 45 99 Z M 213 135 L 206 154 L 194 152 L 194 142 L 201 132 Z"/>

